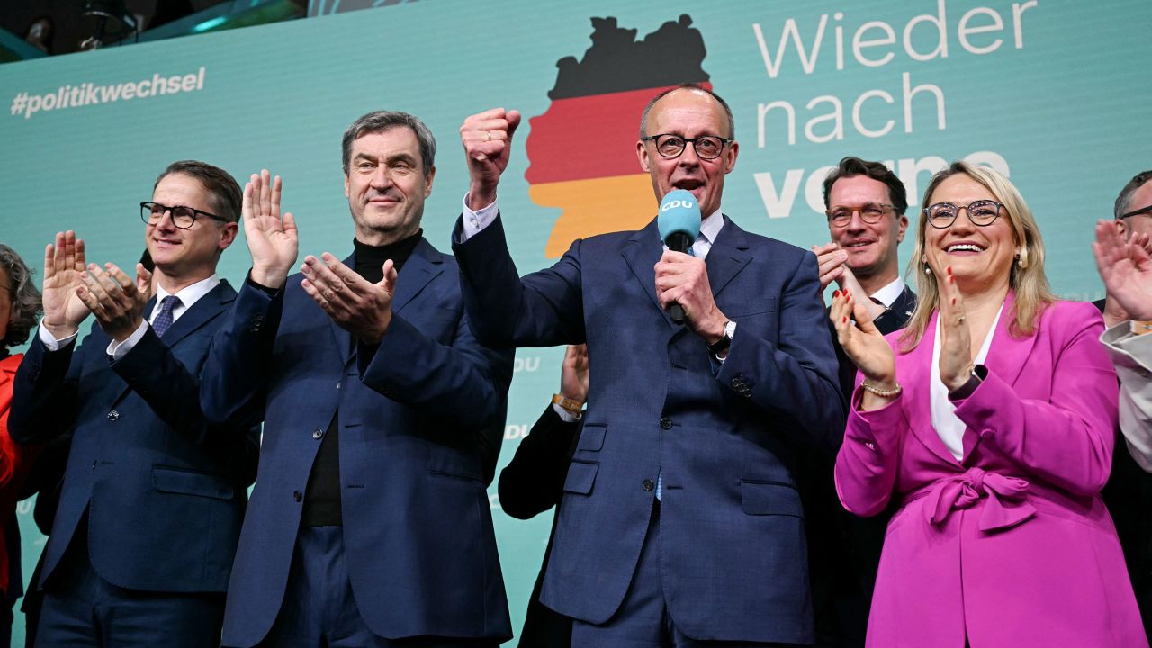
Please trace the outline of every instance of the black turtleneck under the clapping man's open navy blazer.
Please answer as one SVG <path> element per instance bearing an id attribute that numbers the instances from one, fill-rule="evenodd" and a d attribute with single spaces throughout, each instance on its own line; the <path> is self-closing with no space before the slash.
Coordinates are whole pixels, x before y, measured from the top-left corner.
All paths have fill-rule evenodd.
<path id="1" fill-rule="evenodd" d="M 384 262 L 389 258 L 399 272 L 412 250 L 420 242 L 424 231 L 419 229 L 411 236 L 385 246 L 370 246 L 353 240 L 355 254 L 354 270 L 365 280 L 379 284 L 384 279 Z M 353 349 L 356 340 L 351 340 Z M 320 450 L 312 464 L 312 473 L 308 477 L 304 490 L 304 511 L 301 525 L 305 527 L 340 526 L 343 523 L 343 512 L 340 506 L 340 410 L 332 416 L 328 431 L 320 442 Z"/>

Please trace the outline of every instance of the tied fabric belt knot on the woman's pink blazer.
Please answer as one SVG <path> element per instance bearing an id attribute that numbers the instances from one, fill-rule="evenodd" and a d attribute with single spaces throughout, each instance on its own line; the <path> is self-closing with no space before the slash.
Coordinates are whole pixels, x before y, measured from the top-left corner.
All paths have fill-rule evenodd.
<path id="1" fill-rule="evenodd" d="M 987 498 L 980 513 L 979 529 L 992 532 L 1014 527 L 1036 514 L 1028 502 L 1029 483 L 1020 477 L 1008 477 L 972 467 L 967 473 L 940 480 L 929 492 L 925 511 L 934 526 L 957 508 L 970 508 L 982 497 Z"/>

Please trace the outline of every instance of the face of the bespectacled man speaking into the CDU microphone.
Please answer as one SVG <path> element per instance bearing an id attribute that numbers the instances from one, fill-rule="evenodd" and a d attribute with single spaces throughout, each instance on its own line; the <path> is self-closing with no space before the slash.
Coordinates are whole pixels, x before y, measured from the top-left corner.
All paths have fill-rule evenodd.
<path id="1" fill-rule="evenodd" d="M 679 135 L 695 138 L 704 135 L 729 138 L 728 115 L 723 106 L 707 92 L 675 90 L 657 101 L 649 112 L 645 135 Z M 638 141 L 636 156 L 641 167 L 652 178 L 652 190 L 660 202 L 673 189 L 691 191 L 700 203 L 700 218 L 720 209 L 725 176 L 736 166 L 738 145 L 732 142 L 714 160 L 700 159 L 691 144 L 675 159 L 655 150 L 655 142 Z"/>

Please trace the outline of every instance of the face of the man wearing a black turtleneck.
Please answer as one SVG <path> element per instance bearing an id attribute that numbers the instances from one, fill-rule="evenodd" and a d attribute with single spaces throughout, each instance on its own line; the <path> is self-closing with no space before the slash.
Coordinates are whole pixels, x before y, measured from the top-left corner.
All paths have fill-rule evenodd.
<path id="1" fill-rule="evenodd" d="M 415 234 L 434 175 L 435 168 L 424 175 L 419 141 L 411 128 L 397 126 L 357 137 L 344 174 L 356 239 L 384 246 Z"/>

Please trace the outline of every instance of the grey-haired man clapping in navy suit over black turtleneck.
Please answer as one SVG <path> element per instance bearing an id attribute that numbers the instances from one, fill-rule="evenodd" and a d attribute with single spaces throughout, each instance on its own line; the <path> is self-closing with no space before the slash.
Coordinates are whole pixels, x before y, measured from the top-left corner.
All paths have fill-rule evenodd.
<path id="1" fill-rule="evenodd" d="M 483 347 L 455 259 L 423 236 L 435 140 L 344 133 L 354 251 L 296 262 L 280 179 L 244 189 L 252 270 L 213 344 L 210 420 L 264 421 L 225 646 L 487 647 L 511 635 L 486 485 L 513 349 Z"/>

